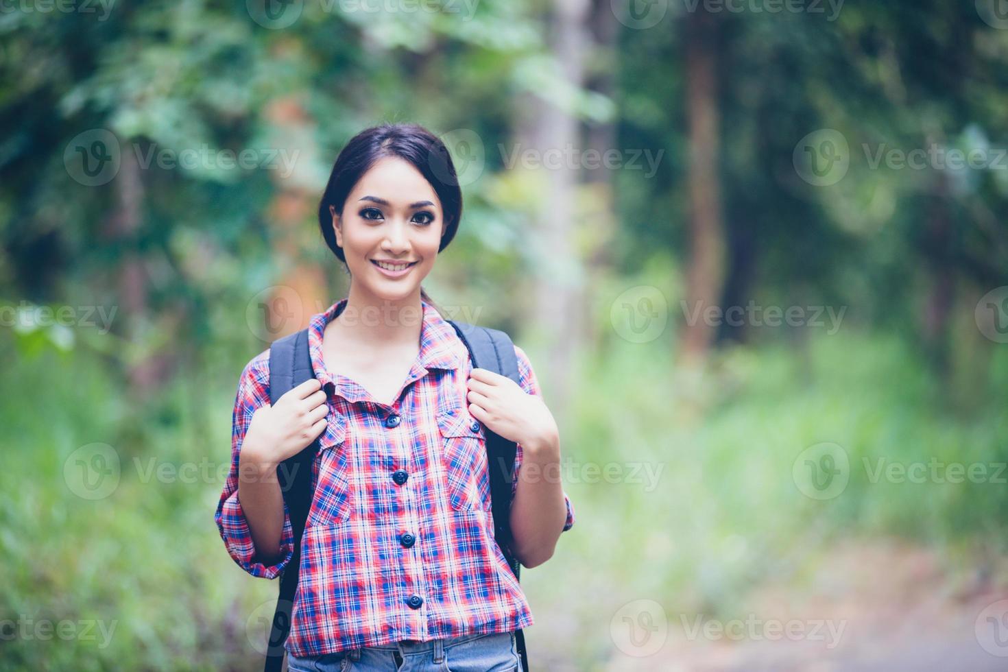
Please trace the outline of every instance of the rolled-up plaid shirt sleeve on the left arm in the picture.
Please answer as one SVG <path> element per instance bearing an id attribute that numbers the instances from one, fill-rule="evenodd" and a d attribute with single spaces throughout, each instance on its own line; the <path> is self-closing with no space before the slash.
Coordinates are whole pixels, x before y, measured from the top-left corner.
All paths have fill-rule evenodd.
<path id="1" fill-rule="evenodd" d="M 228 554 L 242 569 L 262 578 L 276 578 L 293 555 L 293 530 L 287 505 L 283 505 L 283 533 L 280 555 L 276 562 L 266 564 L 255 552 L 248 520 L 238 500 L 239 456 L 245 432 L 256 409 L 269 402 L 269 351 L 258 355 L 245 367 L 238 382 L 235 408 L 231 416 L 231 469 L 217 506 L 215 520 Z"/>

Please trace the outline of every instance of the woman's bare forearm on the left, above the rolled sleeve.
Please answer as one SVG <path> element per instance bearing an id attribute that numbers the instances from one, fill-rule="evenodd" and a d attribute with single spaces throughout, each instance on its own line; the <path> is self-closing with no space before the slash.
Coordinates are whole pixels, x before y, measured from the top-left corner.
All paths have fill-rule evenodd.
<path id="1" fill-rule="evenodd" d="M 283 493 L 276 465 L 256 457 L 239 457 L 238 500 L 248 521 L 256 556 L 264 564 L 279 558 L 283 536 Z"/>

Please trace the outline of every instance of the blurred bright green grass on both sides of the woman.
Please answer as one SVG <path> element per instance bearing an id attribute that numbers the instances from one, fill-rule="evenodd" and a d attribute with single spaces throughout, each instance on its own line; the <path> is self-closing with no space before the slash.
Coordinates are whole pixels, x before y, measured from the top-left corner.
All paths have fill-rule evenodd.
<path id="1" fill-rule="evenodd" d="M 0 619 L 115 630 L 107 646 L 97 628 L 93 639 L 80 630 L 68 639 L 5 634 L 0 669 L 260 665 L 259 633 L 247 624 L 277 586 L 239 569 L 213 522 L 223 487 L 213 467 L 230 456 L 231 406 L 248 358 L 215 357 L 141 401 L 84 350 L 27 358 L 10 343 L 2 349 L 10 364 L 0 383 Z M 548 563 L 522 574 L 536 620 L 529 646 L 547 667 L 572 655 L 579 669 L 601 667 L 613 652 L 610 622 L 628 601 L 732 614 L 761 581 L 800 582 L 838 539 L 895 534 L 950 552 L 1008 542 L 1004 485 L 871 483 L 863 467 L 880 457 L 1008 460 L 998 405 L 1008 398 L 1005 349 L 966 378 L 974 400 L 966 405 L 951 404 L 956 390 L 882 335 L 730 349 L 692 373 L 659 347 L 616 342 L 581 369 L 576 421 L 562 431 L 578 520 Z M 843 446 L 852 468 L 840 496 L 816 501 L 798 491 L 792 464 L 823 441 Z M 112 446 L 121 465 L 118 487 L 95 501 L 75 495 L 64 476 L 71 454 L 93 442 Z M 211 471 L 145 480 L 135 460 L 146 468 L 151 458 Z M 590 483 L 589 463 L 615 465 L 616 478 Z M 660 467 L 656 487 L 629 482 L 638 464 Z"/>

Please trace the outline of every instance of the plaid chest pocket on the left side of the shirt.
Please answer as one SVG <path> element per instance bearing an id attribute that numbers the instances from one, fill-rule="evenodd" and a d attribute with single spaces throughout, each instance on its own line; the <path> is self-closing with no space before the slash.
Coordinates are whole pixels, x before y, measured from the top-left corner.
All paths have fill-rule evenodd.
<path id="1" fill-rule="evenodd" d="M 346 438 L 347 417 L 330 413 L 329 425 L 319 437 L 314 496 L 305 527 L 338 525 L 350 515 L 350 450 Z"/>

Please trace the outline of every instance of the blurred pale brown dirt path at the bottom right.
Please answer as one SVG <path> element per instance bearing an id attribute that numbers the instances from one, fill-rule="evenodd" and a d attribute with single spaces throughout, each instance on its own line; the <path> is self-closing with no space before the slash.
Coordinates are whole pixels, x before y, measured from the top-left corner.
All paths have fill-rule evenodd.
<path id="1" fill-rule="evenodd" d="M 764 586 L 747 600 L 749 615 L 724 623 L 668 615 L 658 652 L 617 652 L 605 669 L 1008 670 L 1008 590 L 954 577 L 931 552 L 896 543 L 852 544 L 826 557 L 807 581 L 810 589 Z"/>

